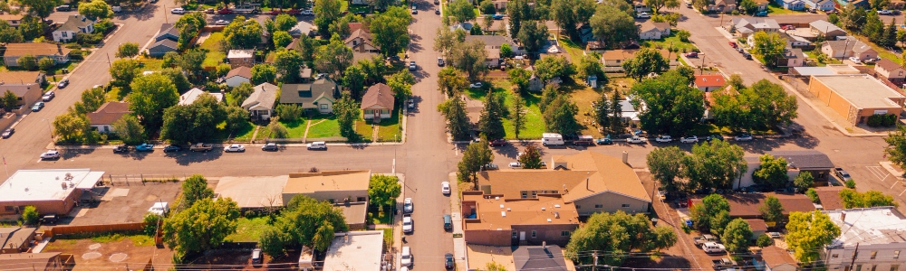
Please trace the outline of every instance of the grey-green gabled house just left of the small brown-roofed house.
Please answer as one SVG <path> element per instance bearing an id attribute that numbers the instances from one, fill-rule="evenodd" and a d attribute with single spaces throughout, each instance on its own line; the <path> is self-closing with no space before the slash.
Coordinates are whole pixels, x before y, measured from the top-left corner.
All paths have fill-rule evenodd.
<path id="1" fill-rule="evenodd" d="M 333 113 L 333 103 L 337 98 L 340 98 L 339 86 L 326 77 L 311 83 L 284 84 L 280 90 L 281 104 L 294 104 L 321 114 Z"/>

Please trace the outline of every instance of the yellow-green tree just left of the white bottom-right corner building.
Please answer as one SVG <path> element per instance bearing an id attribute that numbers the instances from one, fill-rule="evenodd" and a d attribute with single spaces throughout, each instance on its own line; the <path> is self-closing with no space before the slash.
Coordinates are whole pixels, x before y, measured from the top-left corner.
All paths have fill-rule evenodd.
<path id="1" fill-rule="evenodd" d="M 822 248 L 838 236 L 840 227 L 820 210 L 791 212 L 786 223 L 786 244 L 795 251 L 795 259 L 801 263 L 811 263 L 821 257 Z"/>

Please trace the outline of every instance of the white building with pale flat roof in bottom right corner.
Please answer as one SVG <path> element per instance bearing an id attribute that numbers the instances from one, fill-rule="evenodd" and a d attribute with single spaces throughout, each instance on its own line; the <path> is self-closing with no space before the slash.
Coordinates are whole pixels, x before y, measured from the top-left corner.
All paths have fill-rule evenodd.
<path id="1" fill-rule="evenodd" d="M 820 253 L 828 270 L 900 271 L 906 267 L 906 255 L 901 255 L 906 252 L 906 218 L 895 207 L 822 212 L 840 227 L 840 236 Z"/>

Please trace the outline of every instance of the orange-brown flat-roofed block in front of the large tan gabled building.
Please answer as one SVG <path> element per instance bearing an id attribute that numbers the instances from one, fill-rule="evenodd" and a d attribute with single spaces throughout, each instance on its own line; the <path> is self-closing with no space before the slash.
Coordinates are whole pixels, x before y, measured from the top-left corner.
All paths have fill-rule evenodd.
<path id="1" fill-rule="evenodd" d="M 462 192 L 463 238 L 467 244 L 566 246 L 579 228 L 573 203 L 560 194 L 520 199 L 482 191 Z"/>

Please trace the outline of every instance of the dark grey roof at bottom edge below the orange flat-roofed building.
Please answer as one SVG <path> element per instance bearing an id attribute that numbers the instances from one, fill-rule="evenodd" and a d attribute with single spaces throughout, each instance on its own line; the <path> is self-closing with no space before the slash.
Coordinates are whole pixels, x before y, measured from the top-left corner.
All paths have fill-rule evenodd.
<path id="1" fill-rule="evenodd" d="M 545 270 L 566 271 L 566 259 L 563 249 L 557 245 L 519 246 L 513 250 L 513 263 L 516 271 Z"/>

